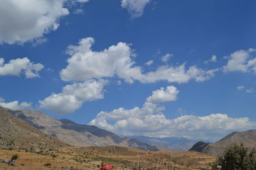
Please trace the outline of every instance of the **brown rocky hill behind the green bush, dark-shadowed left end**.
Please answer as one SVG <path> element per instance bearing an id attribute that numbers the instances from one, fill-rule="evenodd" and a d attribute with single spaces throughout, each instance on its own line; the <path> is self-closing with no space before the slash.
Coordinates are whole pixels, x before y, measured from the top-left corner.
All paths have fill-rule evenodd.
<path id="1" fill-rule="evenodd" d="M 249 149 L 256 148 L 256 130 L 232 132 L 214 144 L 199 141 L 190 150 L 208 155 L 218 155 L 223 153 L 223 150 L 232 143 L 243 143 Z"/>

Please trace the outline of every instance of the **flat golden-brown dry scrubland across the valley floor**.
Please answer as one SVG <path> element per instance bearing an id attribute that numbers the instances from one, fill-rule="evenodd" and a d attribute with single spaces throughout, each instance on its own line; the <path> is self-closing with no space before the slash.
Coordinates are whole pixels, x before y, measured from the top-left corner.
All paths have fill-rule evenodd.
<path id="1" fill-rule="evenodd" d="M 118 169 L 207 169 L 214 157 L 198 152 L 143 151 L 120 146 L 58 148 L 38 152 L 25 150 L 0 150 L 0 159 L 10 159 L 18 154 L 17 166 L 0 163 L 0 169 L 100 169 L 100 164 L 110 163 Z M 48 164 L 48 166 L 47 166 Z"/>

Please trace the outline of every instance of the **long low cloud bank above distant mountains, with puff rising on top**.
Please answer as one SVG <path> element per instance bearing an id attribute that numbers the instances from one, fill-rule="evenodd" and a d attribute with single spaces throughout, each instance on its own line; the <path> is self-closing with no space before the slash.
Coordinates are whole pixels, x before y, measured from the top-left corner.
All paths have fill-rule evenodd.
<path id="1" fill-rule="evenodd" d="M 226 114 L 211 114 L 204 117 L 195 115 L 182 115 L 181 117 L 168 119 L 156 103 L 175 101 L 179 90 L 170 86 L 152 92 L 152 96 L 142 108 L 125 110 L 118 108 L 106 112 L 101 111 L 90 125 L 107 129 L 124 135 L 145 135 L 159 137 L 204 138 L 215 140 L 220 135 L 228 132 L 255 128 L 255 122 L 248 118 L 230 118 Z M 154 100 L 156 99 L 156 100 Z M 217 138 L 216 138 L 217 137 Z"/>

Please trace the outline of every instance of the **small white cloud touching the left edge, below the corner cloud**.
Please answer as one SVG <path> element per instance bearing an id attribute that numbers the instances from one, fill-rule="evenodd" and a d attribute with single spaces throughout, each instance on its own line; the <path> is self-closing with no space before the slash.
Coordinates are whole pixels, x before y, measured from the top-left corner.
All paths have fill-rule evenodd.
<path id="1" fill-rule="evenodd" d="M 43 68 L 44 66 L 42 64 L 34 64 L 27 57 L 22 59 L 13 59 L 6 64 L 4 64 L 4 59 L 0 58 L 0 76 L 19 76 L 21 73 L 24 73 L 26 78 L 35 78 L 39 77 L 38 71 Z"/>

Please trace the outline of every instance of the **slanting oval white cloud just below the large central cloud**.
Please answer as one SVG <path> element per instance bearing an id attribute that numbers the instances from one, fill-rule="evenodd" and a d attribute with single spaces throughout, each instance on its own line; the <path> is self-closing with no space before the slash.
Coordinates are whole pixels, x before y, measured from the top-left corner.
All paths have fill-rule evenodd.
<path id="1" fill-rule="evenodd" d="M 57 114 L 72 113 L 85 101 L 102 99 L 104 97 L 103 87 L 106 83 L 104 80 L 89 80 L 67 85 L 63 87 L 61 93 L 53 93 L 43 101 L 39 101 L 40 107 Z"/>

